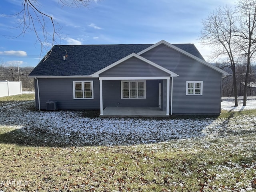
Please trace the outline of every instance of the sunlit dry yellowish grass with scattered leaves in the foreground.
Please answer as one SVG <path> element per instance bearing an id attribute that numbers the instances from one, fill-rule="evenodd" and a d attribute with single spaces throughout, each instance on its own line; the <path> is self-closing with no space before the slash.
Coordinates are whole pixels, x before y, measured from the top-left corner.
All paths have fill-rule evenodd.
<path id="1" fill-rule="evenodd" d="M 256 191 L 256 124 L 241 123 L 255 116 L 223 113 L 203 137 L 130 146 L 43 146 L 47 132 L 21 144 L 0 124 L 0 191 Z"/>

